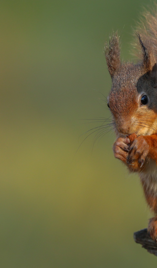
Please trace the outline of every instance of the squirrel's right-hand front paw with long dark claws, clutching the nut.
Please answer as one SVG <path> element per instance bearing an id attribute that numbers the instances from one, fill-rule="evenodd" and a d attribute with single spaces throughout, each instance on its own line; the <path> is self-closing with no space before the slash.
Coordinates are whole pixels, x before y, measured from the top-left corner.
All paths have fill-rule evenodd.
<path id="1" fill-rule="evenodd" d="M 145 136 L 137 137 L 129 149 L 129 155 L 127 158 L 127 163 L 132 165 L 132 170 L 138 171 L 142 168 L 148 152 L 149 144 L 145 139 Z"/>

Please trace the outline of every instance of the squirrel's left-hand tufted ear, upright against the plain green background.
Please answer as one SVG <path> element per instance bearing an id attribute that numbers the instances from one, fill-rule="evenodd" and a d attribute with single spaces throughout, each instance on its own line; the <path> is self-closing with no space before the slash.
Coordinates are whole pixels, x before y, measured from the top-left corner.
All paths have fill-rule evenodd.
<path id="1" fill-rule="evenodd" d="M 112 40 L 110 39 L 109 45 L 105 45 L 106 62 L 109 69 L 111 78 L 113 78 L 115 71 L 119 68 L 120 61 L 120 49 L 119 49 L 119 37 L 117 32 L 113 34 Z"/>

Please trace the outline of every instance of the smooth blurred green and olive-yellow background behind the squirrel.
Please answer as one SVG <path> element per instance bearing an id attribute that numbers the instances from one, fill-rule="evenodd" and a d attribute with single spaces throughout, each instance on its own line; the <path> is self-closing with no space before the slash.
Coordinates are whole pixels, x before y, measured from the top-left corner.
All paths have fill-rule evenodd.
<path id="1" fill-rule="evenodd" d="M 114 159 L 103 55 L 112 31 L 132 59 L 148 1 L 0 2 L 0 267 L 153 267 L 134 243 L 151 217 L 136 175 Z M 77 153 L 76 153 L 77 151 Z M 76 154 L 75 154 L 76 153 Z"/>

